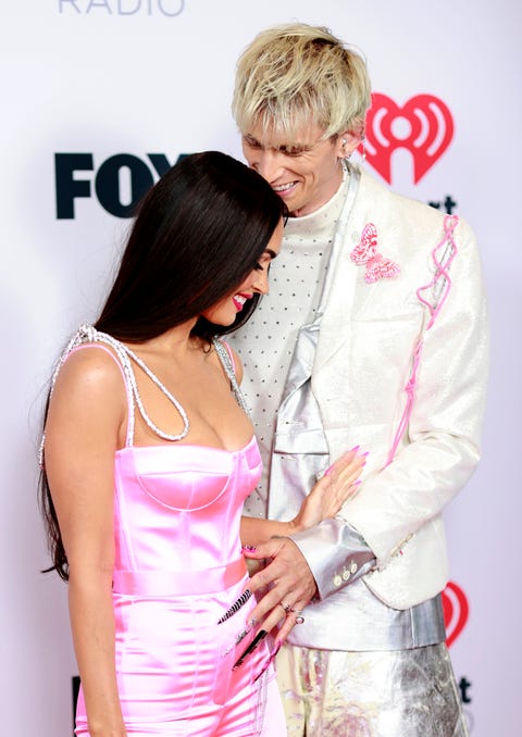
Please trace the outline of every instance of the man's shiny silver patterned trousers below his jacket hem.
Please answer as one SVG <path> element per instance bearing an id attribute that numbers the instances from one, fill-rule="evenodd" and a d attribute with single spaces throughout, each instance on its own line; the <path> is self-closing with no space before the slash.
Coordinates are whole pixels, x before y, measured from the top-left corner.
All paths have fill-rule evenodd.
<path id="1" fill-rule="evenodd" d="M 288 737 L 469 737 L 445 644 L 343 652 L 284 645 Z"/>

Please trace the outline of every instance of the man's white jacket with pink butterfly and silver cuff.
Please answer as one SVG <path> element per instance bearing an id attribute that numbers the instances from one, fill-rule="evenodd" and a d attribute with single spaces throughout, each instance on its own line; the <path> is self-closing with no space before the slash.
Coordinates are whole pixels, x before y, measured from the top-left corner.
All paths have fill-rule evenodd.
<path id="1" fill-rule="evenodd" d="M 447 583 L 442 513 L 480 458 L 488 357 L 480 258 L 463 221 L 362 172 L 328 271 L 312 391 L 331 459 L 355 445 L 369 457 L 338 517 L 296 541 L 325 599 L 346 571 L 349 523 L 376 557 L 364 583 L 408 609 Z"/>

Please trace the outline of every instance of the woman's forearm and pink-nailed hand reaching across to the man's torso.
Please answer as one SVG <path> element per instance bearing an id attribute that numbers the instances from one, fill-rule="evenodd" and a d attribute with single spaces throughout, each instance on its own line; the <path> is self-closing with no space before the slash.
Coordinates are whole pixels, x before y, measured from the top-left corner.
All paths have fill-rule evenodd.
<path id="1" fill-rule="evenodd" d="M 289 522 L 241 517 L 241 542 L 256 546 L 273 537 L 289 537 L 334 517 L 345 501 L 358 488 L 358 479 L 365 464 L 366 453 L 358 449 L 341 455 L 315 484 L 303 500 L 298 514 Z"/>

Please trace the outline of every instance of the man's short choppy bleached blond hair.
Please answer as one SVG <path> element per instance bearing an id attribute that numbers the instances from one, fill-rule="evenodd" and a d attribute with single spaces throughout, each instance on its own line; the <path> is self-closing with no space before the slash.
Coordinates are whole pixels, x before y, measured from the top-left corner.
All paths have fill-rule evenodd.
<path id="1" fill-rule="evenodd" d="M 241 133 L 291 135 L 315 123 L 323 138 L 362 135 L 371 101 L 362 57 L 328 28 L 303 23 L 261 32 L 238 60 L 232 111 Z"/>

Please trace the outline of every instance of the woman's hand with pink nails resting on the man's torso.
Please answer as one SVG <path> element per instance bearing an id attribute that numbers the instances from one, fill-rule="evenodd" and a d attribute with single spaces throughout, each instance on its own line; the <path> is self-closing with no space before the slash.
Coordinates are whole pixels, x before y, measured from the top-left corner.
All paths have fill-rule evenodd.
<path id="1" fill-rule="evenodd" d="M 359 453 L 358 448 L 352 448 L 326 470 L 302 502 L 297 516 L 290 522 L 294 532 L 309 529 L 337 514 L 345 501 L 359 487 L 359 477 L 366 462 L 366 454 Z"/>

